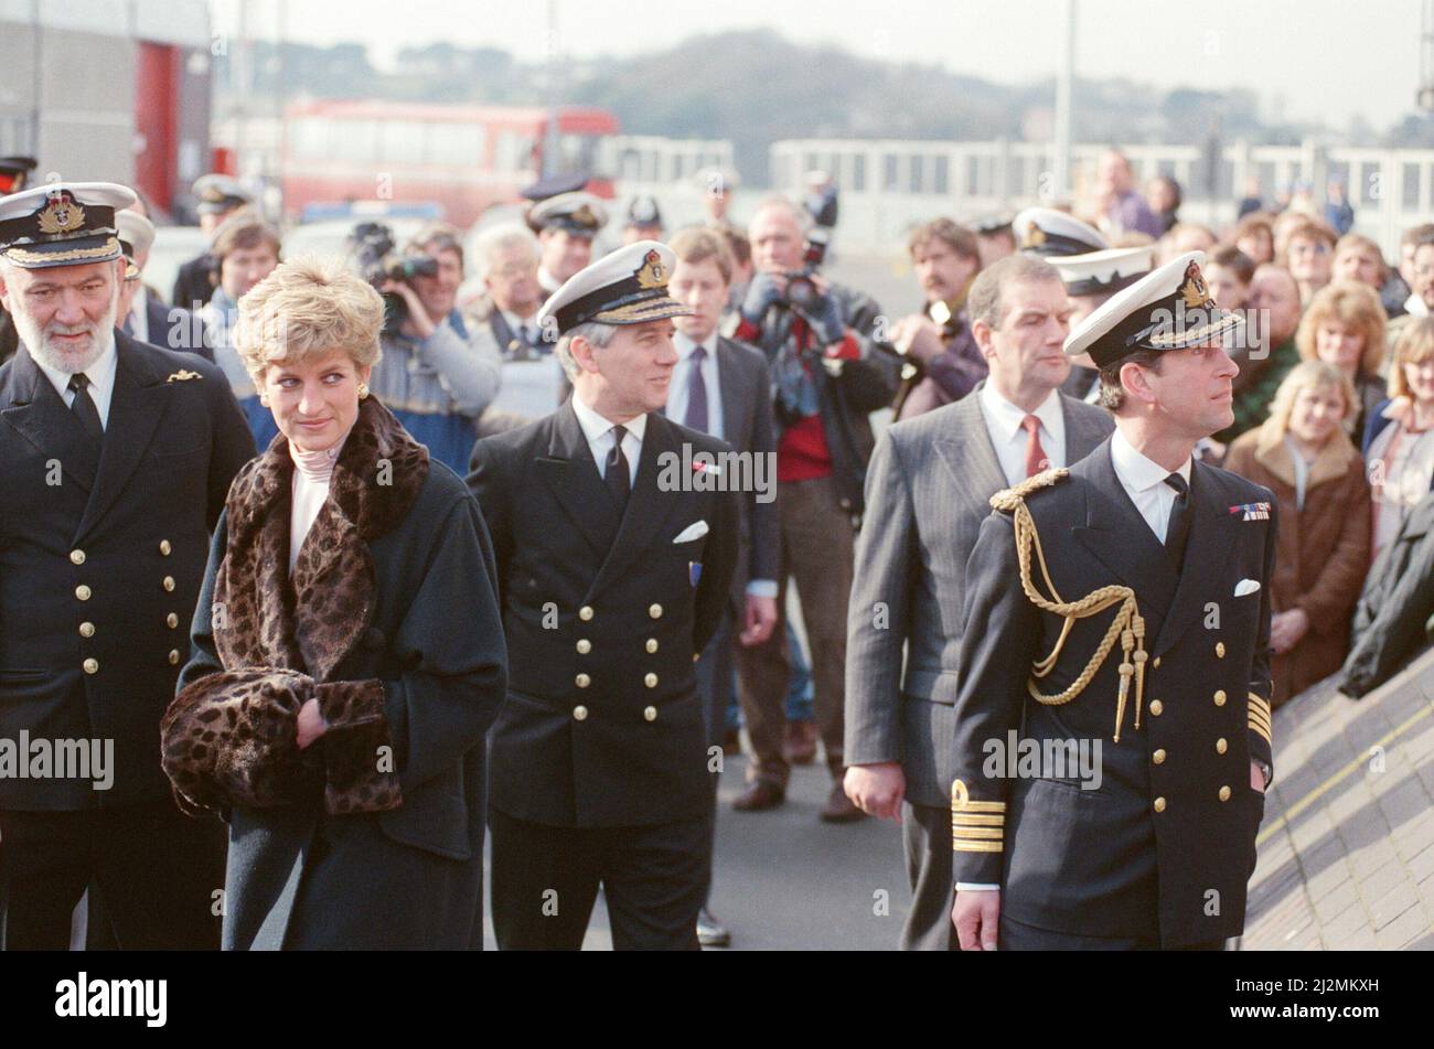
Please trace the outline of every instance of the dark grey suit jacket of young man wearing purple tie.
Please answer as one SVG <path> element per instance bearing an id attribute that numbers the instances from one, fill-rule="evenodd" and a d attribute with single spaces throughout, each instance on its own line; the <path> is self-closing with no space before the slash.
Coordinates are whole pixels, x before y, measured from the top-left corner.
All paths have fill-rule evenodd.
<path id="1" fill-rule="evenodd" d="M 723 440 L 760 459 L 761 480 L 771 499 L 761 502 L 756 486 L 741 497 L 737 569 L 731 589 L 740 616 L 743 593 L 753 579 L 776 579 L 782 556 L 777 519 L 777 437 L 771 416 L 771 374 L 766 355 L 746 343 L 717 337 L 717 385 L 721 387 Z M 683 420 L 677 420 L 683 421 Z"/>

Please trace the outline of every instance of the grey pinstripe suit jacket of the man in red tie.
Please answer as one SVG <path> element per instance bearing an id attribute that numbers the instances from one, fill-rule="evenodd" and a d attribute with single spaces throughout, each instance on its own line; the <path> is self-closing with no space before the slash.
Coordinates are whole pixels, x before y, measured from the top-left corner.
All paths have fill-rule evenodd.
<path id="1" fill-rule="evenodd" d="M 949 804 L 967 559 L 991 496 L 1007 487 L 982 385 L 892 426 L 866 476 L 870 512 L 847 615 L 846 761 L 901 761 L 918 805 Z M 1114 430 L 1103 408 L 1061 394 L 1061 410 L 1068 464 Z"/>

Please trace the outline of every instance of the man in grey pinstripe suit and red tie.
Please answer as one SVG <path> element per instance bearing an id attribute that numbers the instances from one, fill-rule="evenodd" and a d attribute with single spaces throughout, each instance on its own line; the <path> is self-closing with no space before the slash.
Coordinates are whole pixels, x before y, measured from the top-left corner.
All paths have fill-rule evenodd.
<path id="1" fill-rule="evenodd" d="M 1060 393 L 1071 307 L 1025 255 L 984 269 L 968 298 L 991 374 L 967 397 L 882 434 L 866 477 L 879 507 L 856 545 L 846 662 L 846 792 L 902 824 L 913 893 L 903 950 L 956 950 L 951 781 L 967 557 L 991 496 L 1090 454 L 1110 414 Z M 903 669 L 905 653 L 905 669 Z"/>

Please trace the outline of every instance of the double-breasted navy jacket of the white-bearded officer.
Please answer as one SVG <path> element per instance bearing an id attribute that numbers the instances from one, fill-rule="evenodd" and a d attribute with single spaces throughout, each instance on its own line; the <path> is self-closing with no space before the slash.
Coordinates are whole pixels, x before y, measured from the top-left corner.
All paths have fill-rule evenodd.
<path id="1" fill-rule="evenodd" d="M 0 778 L 0 808 L 169 797 L 159 719 L 208 533 L 254 441 L 224 374 L 115 332 L 99 457 L 27 348 L 0 367 L 0 738 L 115 741 L 113 785 Z"/>

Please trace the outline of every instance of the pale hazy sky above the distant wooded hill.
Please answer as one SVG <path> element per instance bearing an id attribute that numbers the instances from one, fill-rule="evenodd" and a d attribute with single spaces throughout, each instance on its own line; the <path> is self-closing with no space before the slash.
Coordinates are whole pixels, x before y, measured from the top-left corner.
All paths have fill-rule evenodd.
<path id="1" fill-rule="evenodd" d="M 358 40 L 379 63 L 436 40 L 546 53 L 548 0 L 248 0 L 250 32 L 310 43 Z M 632 54 L 688 36 L 770 26 L 858 54 L 941 63 L 1001 83 L 1054 73 L 1064 0 L 552 0 L 574 56 Z M 1078 76 L 1157 87 L 1253 87 L 1296 119 L 1384 128 L 1414 110 L 1418 0 L 1074 0 Z M 212 0 L 234 32 L 239 0 Z M 1263 112 L 1269 112 L 1268 109 Z"/>

